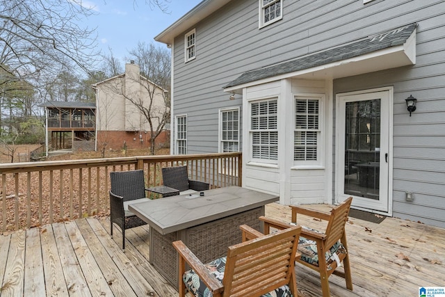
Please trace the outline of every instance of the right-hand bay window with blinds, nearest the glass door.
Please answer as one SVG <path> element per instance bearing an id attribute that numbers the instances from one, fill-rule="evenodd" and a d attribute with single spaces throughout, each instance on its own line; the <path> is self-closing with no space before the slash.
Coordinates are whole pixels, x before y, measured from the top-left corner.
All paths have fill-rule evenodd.
<path id="1" fill-rule="evenodd" d="M 296 96 L 293 160 L 296 165 L 321 165 L 323 97 Z"/>

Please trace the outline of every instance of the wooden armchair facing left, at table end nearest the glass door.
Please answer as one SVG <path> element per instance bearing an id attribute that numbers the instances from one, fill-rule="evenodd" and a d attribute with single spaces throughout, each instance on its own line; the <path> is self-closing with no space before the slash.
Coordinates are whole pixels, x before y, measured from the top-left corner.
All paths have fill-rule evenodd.
<path id="1" fill-rule="evenodd" d="M 346 199 L 343 203 L 334 207 L 330 214 L 314 209 L 290 206 L 292 209 L 292 222 L 295 224 L 297 222 L 297 214 L 312 216 L 321 220 L 327 220 L 328 222 L 325 232 L 302 227 L 300 242 L 298 243 L 298 252 L 301 253 L 301 257 L 296 259 L 298 263 L 320 273 L 323 297 L 330 296 L 328 278 L 332 273 L 344 278 L 346 287 L 351 291 L 353 290 L 345 231 L 352 201 L 352 197 Z M 270 228 L 277 230 L 289 228 L 289 223 L 283 223 L 280 220 L 273 220 L 264 216 L 261 216 L 259 219 L 264 221 L 265 234 L 270 232 Z M 337 270 L 341 262 L 343 262 L 344 271 Z"/>

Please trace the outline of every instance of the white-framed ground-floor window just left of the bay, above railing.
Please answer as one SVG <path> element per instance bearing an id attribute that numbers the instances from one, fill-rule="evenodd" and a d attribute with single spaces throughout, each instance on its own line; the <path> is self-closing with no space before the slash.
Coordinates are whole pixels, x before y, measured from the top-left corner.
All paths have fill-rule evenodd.
<path id="1" fill-rule="evenodd" d="M 239 152 L 239 108 L 220 110 L 220 152 Z"/>

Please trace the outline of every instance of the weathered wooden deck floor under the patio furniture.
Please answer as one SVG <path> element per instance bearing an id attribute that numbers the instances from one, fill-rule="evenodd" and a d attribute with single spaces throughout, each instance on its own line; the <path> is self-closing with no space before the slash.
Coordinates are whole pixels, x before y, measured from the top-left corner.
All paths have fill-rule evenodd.
<path id="1" fill-rule="evenodd" d="M 289 220 L 290 209 L 269 204 L 266 215 Z M 81 218 L 0 236 L 0 296 L 177 296 L 148 263 L 148 227 L 127 230 L 122 252 L 122 234 L 115 228 L 111 239 L 109 222 Z M 418 296 L 419 286 L 445 286 L 445 230 L 397 218 L 350 218 L 346 230 L 354 290 L 332 275 L 332 296 Z M 296 271 L 300 294 L 321 296 L 318 275 L 299 264 Z"/>

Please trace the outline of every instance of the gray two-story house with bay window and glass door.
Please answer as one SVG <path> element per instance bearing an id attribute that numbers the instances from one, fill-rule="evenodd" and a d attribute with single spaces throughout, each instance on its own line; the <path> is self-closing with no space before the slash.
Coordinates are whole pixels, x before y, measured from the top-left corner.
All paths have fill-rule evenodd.
<path id="1" fill-rule="evenodd" d="M 445 227 L 445 1 L 204 0 L 155 40 L 172 153 L 239 150 L 282 204 Z"/>

